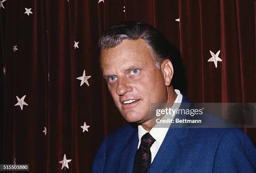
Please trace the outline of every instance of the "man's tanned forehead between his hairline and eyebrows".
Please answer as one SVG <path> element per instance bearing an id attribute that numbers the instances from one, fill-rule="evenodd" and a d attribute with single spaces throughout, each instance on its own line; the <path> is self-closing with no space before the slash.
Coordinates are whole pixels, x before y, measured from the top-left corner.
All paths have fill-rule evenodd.
<path id="1" fill-rule="evenodd" d="M 151 51 L 143 39 L 124 40 L 118 46 L 103 49 L 100 52 L 100 63 L 102 72 L 113 68 L 113 66 L 129 66 L 130 64 L 147 64 L 154 59 Z"/>

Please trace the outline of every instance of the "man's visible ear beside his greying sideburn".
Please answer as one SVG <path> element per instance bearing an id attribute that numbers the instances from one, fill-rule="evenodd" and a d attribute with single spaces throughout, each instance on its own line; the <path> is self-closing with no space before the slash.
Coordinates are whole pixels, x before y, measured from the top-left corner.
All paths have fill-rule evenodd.
<path id="1" fill-rule="evenodd" d="M 164 74 L 165 85 L 169 86 L 172 81 L 173 76 L 173 66 L 169 59 L 165 59 L 161 64 L 161 71 Z"/>

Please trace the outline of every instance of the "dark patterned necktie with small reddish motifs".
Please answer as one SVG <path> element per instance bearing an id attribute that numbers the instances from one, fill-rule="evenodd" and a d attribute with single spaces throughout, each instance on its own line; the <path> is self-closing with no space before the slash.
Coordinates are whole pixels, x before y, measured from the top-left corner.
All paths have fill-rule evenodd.
<path id="1" fill-rule="evenodd" d="M 149 132 L 141 137 L 141 145 L 138 148 L 135 158 L 133 173 L 146 173 L 151 165 L 151 151 L 150 148 L 156 140 Z"/>

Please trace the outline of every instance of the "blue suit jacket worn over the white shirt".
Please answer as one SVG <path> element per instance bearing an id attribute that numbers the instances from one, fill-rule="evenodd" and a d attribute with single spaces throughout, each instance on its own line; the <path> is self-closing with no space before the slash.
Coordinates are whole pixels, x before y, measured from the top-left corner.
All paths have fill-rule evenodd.
<path id="1" fill-rule="evenodd" d="M 137 148 L 137 125 L 131 123 L 115 130 L 103 140 L 92 173 L 132 173 Z M 242 130 L 170 127 L 148 173 L 254 173 L 255 170 L 256 149 Z"/>

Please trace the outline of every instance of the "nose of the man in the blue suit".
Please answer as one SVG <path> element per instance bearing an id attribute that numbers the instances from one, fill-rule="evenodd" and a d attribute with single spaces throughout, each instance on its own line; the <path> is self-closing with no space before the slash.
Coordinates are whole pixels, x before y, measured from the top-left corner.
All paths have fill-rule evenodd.
<path id="1" fill-rule="evenodd" d="M 131 86 L 130 81 L 125 78 L 118 78 L 118 86 L 116 87 L 116 94 L 119 96 L 123 96 L 127 92 L 133 91 L 133 87 Z"/>

